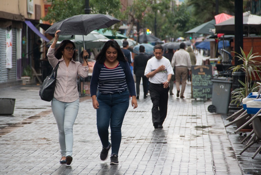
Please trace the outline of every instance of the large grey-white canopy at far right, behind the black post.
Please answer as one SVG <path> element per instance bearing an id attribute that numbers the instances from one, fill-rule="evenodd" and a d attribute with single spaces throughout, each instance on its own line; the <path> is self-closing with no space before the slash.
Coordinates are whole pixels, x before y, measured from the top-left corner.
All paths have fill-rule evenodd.
<path id="1" fill-rule="evenodd" d="M 217 33 L 235 34 L 235 16 L 216 24 Z M 247 34 L 258 34 L 261 32 L 261 16 L 243 13 L 243 32 Z"/>

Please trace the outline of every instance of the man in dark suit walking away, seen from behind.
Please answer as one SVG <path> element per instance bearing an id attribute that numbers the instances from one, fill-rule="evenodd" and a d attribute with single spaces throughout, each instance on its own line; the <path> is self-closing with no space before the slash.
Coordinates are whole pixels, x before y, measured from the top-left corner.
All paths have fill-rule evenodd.
<path id="1" fill-rule="evenodd" d="M 144 54 L 145 47 L 143 45 L 139 46 L 139 55 L 134 57 L 134 63 L 133 63 L 133 72 L 136 76 L 136 93 L 137 93 L 137 99 L 139 99 L 139 84 L 140 80 L 142 78 L 142 86 L 143 86 L 143 92 L 144 97 L 147 98 L 147 84 L 148 84 L 148 78 L 146 75 L 144 75 L 145 68 L 147 65 L 147 62 L 149 60 L 149 57 Z"/>

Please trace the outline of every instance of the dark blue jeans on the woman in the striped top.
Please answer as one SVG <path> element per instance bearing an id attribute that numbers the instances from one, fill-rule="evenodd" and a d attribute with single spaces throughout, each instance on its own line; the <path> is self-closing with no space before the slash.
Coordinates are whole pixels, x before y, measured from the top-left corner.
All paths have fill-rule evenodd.
<path id="1" fill-rule="evenodd" d="M 122 122 L 129 107 L 129 91 L 119 93 L 97 93 L 99 108 L 97 112 L 97 129 L 103 147 L 109 145 L 109 126 L 111 131 L 111 153 L 118 154 L 122 140 Z"/>

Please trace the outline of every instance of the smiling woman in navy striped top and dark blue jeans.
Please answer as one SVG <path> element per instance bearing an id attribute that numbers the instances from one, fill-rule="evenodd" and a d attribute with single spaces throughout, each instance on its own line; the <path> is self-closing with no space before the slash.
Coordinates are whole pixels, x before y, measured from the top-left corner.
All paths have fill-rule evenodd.
<path id="1" fill-rule="evenodd" d="M 117 165 L 122 139 L 122 122 L 129 107 L 129 95 L 132 96 L 133 108 L 137 108 L 138 105 L 130 66 L 115 40 L 107 41 L 96 56 L 90 93 L 93 107 L 97 109 L 97 129 L 102 142 L 100 159 L 105 161 L 112 148 L 110 164 Z M 111 143 L 109 142 L 109 126 Z"/>

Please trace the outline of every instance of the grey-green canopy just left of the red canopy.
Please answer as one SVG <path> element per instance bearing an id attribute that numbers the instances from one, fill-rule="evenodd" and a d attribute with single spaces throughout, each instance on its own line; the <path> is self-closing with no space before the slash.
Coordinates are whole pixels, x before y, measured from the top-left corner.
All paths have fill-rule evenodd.
<path id="1" fill-rule="evenodd" d="M 215 24 L 216 24 L 215 19 L 212 19 L 211 21 L 201 24 L 185 33 L 199 33 L 199 34 L 213 35 L 215 34 L 215 26 L 214 26 Z"/>

